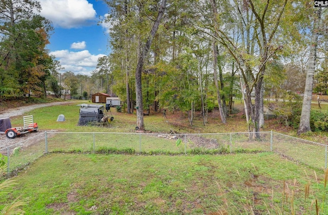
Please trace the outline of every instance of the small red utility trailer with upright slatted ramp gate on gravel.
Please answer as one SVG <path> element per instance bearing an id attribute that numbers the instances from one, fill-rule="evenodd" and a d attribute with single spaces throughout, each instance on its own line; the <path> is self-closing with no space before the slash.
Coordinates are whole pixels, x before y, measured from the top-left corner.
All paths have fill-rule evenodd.
<path id="1" fill-rule="evenodd" d="M 33 116 L 23 116 L 24 126 L 8 128 L 5 133 L 7 138 L 13 139 L 18 135 L 38 131 L 37 123 L 33 122 Z"/>

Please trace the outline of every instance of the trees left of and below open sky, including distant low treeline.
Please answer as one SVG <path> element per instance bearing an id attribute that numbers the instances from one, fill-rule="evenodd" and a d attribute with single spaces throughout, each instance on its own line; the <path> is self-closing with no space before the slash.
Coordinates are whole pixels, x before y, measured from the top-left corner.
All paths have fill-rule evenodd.
<path id="1" fill-rule="evenodd" d="M 0 99 L 31 94 L 46 97 L 50 91 L 55 97 L 65 98 L 62 95 L 70 92 L 78 98 L 101 90 L 108 81 L 104 78 L 99 83 L 97 72 L 91 77 L 59 73 L 65 68 L 46 48 L 54 29 L 48 19 L 38 15 L 40 10 L 37 0 L 0 1 Z"/>

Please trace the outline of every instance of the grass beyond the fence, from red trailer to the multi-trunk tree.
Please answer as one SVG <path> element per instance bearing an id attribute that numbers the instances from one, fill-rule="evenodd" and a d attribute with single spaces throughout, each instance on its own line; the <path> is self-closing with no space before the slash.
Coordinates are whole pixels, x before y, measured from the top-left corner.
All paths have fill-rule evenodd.
<path id="1" fill-rule="evenodd" d="M 111 112 L 114 116 L 114 121 L 110 126 L 77 126 L 79 118 L 79 106 L 81 103 L 89 103 L 88 101 L 77 101 L 61 106 L 49 106 L 37 108 L 25 113 L 24 115 L 33 115 L 34 122 L 38 123 L 39 130 L 58 130 L 58 131 L 84 131 L 84 132 L 135 132 L 136 113 L 120 113 L 116 108 L 112 107 Z M 239 104 L 241 105 L 241 104 Z M 237 105 L 236 105 L 237 106 Z M 65 115 L 65 122 L 56 122 L 59 114 Z M 108 113 L 110 115 L 110 113 Z M 181 118 L 182 115 L 182 118 Z M 186 112 L 167 112 L 167 118 L 163 118 L 160 112 L 151 112 L 151 115 L 144 116 L 146 130 L 153 133 L 168 133 L 171 130 L 179 133 L 218 133 L 247 131 L 245 119 L 232 115 L 228 119 L 228 124 L 220 123 L 218 110 L 209 113 L 208 123 L 202 125 L 200 115 L 196 115 L 194 125 L 190 126 Z M 22 126 L 23 116 L 17 116 L 11 119 L 13 127 Z"/>

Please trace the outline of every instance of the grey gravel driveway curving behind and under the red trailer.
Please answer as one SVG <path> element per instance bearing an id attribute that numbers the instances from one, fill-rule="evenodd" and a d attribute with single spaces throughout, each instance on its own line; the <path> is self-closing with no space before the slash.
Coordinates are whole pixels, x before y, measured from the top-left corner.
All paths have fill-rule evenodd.
<path id="1" fill-rule="evenodd" d="M 54 105 L 63 105 L 63 104 L 69 104 L 69 103 L 73 103 L 73 102 L 52 102 L 52 103 L 34 104 L 34 105 L 12 108 L 12 109 L 8 109 L 8 110 L 0 112 L 0 119 L 24 115 L 25 112 L 31 111 L 36 108 L 48 107 L 48 106 L 54 106 Z M 4 147 L 11 146 L 11 145 L 14 145 L 19 142 L 23 142 L 23 141 L 25 141 L 29 138 L 32 138 L 33 136 L 39 135 L 39 134 L 41 134 L 41 133 L 40 132 L 31 132 L 31 133 L 28 133 L 27 135 L 23 134 L 23 135 L 17 136 L 14 139 L 9 139 L 5 135 L 5 132 L 0 132 L 0 148 L 4 148 Z"/>

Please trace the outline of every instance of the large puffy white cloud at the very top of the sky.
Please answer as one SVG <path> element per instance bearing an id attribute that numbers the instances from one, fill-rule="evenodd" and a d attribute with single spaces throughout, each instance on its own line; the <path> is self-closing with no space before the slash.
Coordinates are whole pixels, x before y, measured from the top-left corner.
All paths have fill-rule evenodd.
<path id="1" fill-rule="evenodd" d="M 54 26 L 77 28 L 95 24 L 96 11 L 87 0 L 40 0 L 40 15 L 48 18 Z"/>

